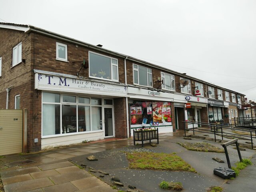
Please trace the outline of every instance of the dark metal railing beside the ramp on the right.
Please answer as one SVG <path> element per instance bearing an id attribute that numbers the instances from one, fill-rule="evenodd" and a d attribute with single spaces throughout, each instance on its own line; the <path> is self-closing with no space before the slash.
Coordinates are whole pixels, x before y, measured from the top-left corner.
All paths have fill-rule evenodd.
<path id="1" fill-rule="evenodd" d="M 216 136 L 221 136 L 222 140 L 223 137 L 233 137 L 233 138 L 238 138 L 238 139 L 243 139 L 243 140 L 250 140 L 251 141 L 251 146 L 253 149 L 253 142 L 252 138 L 256 138 L 256 129 L 251 129 L 251 128 L 244 128 L 244 127 L 237 127 L 237 126 L 227 126 L 227 125 L 222 125 L 222 124 L 212 124 L 212 123 L 204 123 L 204 122 L 184 122 L 184 123 L 189 123 L 192 124 L 192 128 L 185 128 L 185 137 L 186 137 L 186 131 L 193 131 L 193 134 L 195 132 L 202 132 L 202 133 L 208 133 L 208 134 L 214 134 L 214 140 L 216 142 Z M 195 127 L 195 125 L 200 125 L 201 127 Z M 206 128 L 202 127 L 206 126 Z M 241 134 L 236 134 L 236 133 L 230 133 L 226 132 L 226 130 L 238 130 L 238 131 L 243 131 L 243 132 L 248 132 L 248 135 L 241 135 Z M 255 133 L 253 135 L 252 133 Z M 228 135 L 226 135 L 228 134 Z"/>

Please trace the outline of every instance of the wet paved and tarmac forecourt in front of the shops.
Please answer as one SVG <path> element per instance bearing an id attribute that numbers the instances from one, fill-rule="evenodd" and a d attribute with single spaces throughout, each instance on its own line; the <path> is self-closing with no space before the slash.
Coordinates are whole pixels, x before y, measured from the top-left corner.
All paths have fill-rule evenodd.
<path id="1" fill-rule="evenodd" d="M 225 192 L 255 191 L 255 150 L 241 151 L 242 158 L 252 157 L 252 166 L 242 170 L 234 180 L 224 180 L 213 174 L 214 168 L 228 167 L 224 153 L 188 151 L 177 142 L 210 142 L 221 148 L 220 144 L 197 138 L 184 140 L 183 134 L 184 132 L 160 134 L 160 143 L 157 147 L 146 144 L 142 148 L 140 145 L 134 146 L 132 139 L 113 139 L 54 148 L 34 154 L 8 155 L 0 158 L 4 190 L 5 192 L 116 192 L 117 190 L 111 187 L 113 186 L 111 177 L 116 176 L 124 184 L 124 187 L 117 186 L 117 188 L 124 191 L 128 189 L 128 185 L 136 186 L 144 192 L 165 191 L 158 187 L 162 180 L 182 182 L 184 190 L 188 192 L 207 191 L 210 186 L 222 186 Z M 197 173 L 132 170 L 128 168 L 125 151 L 176 152 L 195 168 Z M 239 161 L 234 146 L 228 146 L 228 153 L 231 165 L 234 166 Z M 90 155 L 96 156 L 98 161 L 86 160 Z M 221 158 L 225 163 L 216 162 L 212 160 L 213 157 Z M 96 172 L 91 172 L 88 167 Z"/>

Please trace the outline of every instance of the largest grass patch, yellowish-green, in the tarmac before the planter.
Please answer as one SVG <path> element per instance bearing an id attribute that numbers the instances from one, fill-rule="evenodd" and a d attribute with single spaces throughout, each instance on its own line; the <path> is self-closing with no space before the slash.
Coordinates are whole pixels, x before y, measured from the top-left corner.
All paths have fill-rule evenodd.
<path id="1" fill-rule="evenodd" d="M 190 164 L 186 163 L 176 154 L 133 152 L 127 153 L 129 168 L 168 171 L 196 172 Z"/>

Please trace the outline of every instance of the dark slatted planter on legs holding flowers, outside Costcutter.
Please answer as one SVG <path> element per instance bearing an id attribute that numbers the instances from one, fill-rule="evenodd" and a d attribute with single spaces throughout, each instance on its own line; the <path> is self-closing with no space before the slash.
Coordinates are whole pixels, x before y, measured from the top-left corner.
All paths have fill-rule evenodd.
<path id="1" fill-rule="evenodd" d="M 136 141 L 142 142 L 142 147 L 144 146 L 144 141 L 151 143 L 151 140 L 157 139 L 157 144 L 159 144 L 158 138 L 158 128 L 156 129 L 145 129 L 141 128 L 140 130 L 133 130 L 133 144 L 135 145 Z"/>

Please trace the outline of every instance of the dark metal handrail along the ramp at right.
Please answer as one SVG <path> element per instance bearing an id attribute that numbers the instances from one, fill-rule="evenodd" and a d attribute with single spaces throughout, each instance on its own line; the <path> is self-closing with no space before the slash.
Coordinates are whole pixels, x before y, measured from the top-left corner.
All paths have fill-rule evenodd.
<path id="1" fill-rule="evenodd" d="M 184 122 L 184 121 L 183 121 Z M 223 136 L 225 136 L 224 134 L 230 134 L 232 135 L 232 137 L 234 138 L 238 138 L 238 139 L 246 139 L 246 138 L 250 138 L 250 139 L 246 139 L 246 140 L 251 140 L 251 144 L 252 144 L 252 149 L 253 149 L 253 142 L 252 142 L 252 138 L 256 138 L 256 129 L 252 130 L 250 128 L 240 128 L 237 126 L 227 126 L 227 125 L 221 125 L 221 124 L 212 124 L 212 123 L 204 123 L 204 122 L 184 122 L 184 123 L 190 123 L 193 125 L 193 134 L 195 134 L 195 132 L 202 132 L 202 133 L 208 133 L 208 134 L 214 134 L 214 140 L 216 142 L 216 135 L 218 136 L 222 136 L 222 140 L 223 140 Z M 203 128 L 198 128 L 198 127 L 194 127 L 194 124 L 200 124 L 208 126 L 209 128 L 211 127 L 211 130 L 205 130 Z M 212 130 L 213 127 L 213 130 Z M 245 132 L 249 132 L 250 135 L 240 135 L 240 134 L 234 134 L 234 133 L 227 133 L 227 132 L 223 132 L 223 128 L 226 129 L 232 129 L 232 130 L 239 130 L 239 131 L 245 131 Z M 218 130 L 221 131 L 218 131 Z M 186 130 L 191 130 L 188 128 L 185 128 L 185 137 L 186 137 Z M 202 131 L 203 130 L 203 131 Z M 252 133 L 255 132 L 255 137 L 253 137 Z M 240 137 L 239 137 L 240 136 Z"/>

